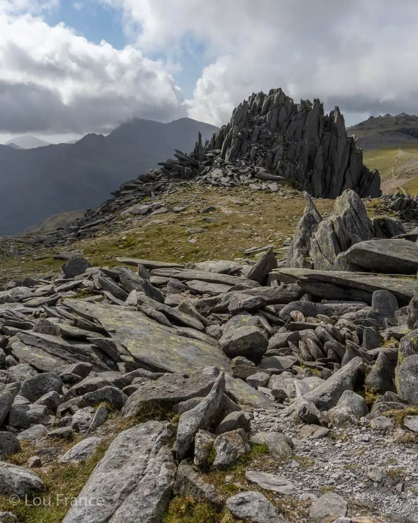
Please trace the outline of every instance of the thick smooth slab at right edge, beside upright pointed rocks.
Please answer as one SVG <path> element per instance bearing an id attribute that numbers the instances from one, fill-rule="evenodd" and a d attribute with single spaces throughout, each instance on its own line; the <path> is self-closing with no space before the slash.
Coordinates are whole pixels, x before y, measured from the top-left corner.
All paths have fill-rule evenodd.
<path id="1" fill-rule="evenodd" d="M 418 270 L 418 245 L 408 240 L 369 240 L 345 251 L 352 263 L 385 274 L 413 274 Z"/>

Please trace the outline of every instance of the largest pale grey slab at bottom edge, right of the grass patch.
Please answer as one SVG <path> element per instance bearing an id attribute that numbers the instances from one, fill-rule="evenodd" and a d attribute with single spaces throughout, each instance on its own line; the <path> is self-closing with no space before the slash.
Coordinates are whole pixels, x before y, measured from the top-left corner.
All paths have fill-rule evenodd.
<path id="1" fill-rule="evenodd" d="M 80 502 L 69 509 L 63 523 L 160 521 L 176 476 L 170 450 L 173 434 L 171 424 L 155 421 L 120 433 L 79 493 Z M 86 499 L 90 503 L 86 504 Z M 97 503 L 99 499 L 105 502 Z"/>

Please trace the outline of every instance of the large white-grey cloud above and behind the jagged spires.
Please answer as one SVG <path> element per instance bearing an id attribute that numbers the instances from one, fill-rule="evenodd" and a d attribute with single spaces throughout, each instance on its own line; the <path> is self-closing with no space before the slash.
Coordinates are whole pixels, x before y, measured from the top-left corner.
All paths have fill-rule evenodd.
<path id="1" fill-rule="evenodd" d="M 281 86 L 345 112 L 418 112 L 415 0 L 102 0 L 123 7 L 144 50 L 203 43 L 211 64 L 190 116 L 224 123 L 251 92 Z"/>

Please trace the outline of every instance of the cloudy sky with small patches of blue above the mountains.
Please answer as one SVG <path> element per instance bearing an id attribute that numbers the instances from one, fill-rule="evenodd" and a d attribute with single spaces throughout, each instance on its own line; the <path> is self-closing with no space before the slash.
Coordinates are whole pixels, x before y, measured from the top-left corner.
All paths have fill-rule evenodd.
<path id="1" fill-rule="evenodd" d="M 0 143 L 133 117 L 221 126 L 252 92 L 418 113 L 416 0 L 0 0 Z"/>

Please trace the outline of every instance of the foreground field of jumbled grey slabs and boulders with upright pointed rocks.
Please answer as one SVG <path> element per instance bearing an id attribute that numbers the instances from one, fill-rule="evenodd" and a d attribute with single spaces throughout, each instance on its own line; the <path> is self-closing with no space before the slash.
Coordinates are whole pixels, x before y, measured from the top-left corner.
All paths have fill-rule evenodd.
<path id="1" fill-rule="evenodd" d="M 167 511 L 203 504 L 219 521 L 225 511 L 260 523 L 309 511 L 312 521 L 355 522 L 345 518 L 355 500 L 413 522 L 415 243 L 370 241 L 376 225 L 352 191 L 335 211 L 322 227 L 321 238 L 333 234 L 327 245 L 332 237 L 345 254 L 363 245 L 367 260 L 368 244 L 381 242 L 379 269 L 407 276 L 286 268 L 267 248 L 257 262 L 188 266 L 120 258 L 109 269 L 77 256 L 62 275 L 10 282 L 0 292 L 0 521 L 30 515 L 25 499 L 47 483 L 51 494 L 49 465 L 97 458 L 63 521 L 162 523 Z M 309 197 L 301 223 L 312 228 L 299 228 L 292 256 L 302 259 L 308 240 L 323 253 L 324 221 Z M 118 433 L 118 423 L 129 428 Z M 21 442 L 33 449 L 25 467 L 13 461 Z M 332 473 L 318 475 L 324 460 Z M 202 475 L 211 471 L 223 474 L 216 485 Z M 283 514 L 260 489 L 289 496 L 296 512 Z"/>

